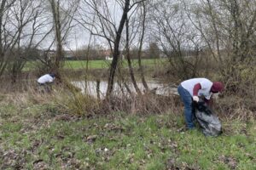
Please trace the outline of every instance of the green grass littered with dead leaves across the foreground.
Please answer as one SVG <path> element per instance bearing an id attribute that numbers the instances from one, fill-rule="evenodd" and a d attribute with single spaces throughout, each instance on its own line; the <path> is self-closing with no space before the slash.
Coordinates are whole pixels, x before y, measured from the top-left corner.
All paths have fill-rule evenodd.
<path id="1" fill-rule="evenodd" d="M 256 168 L 254 120 L 223 122 L 222 136 L 206 138 L 200 130 L 180 133 L 183 116 L 171 113 L 113 115 L 76 118 L 52 104 L 0 105 L 0 169 Z"/>

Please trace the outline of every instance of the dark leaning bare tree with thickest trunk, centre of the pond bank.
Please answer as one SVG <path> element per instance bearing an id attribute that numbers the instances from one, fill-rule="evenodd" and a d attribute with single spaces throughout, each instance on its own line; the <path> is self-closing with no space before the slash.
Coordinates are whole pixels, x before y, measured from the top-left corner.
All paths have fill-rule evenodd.
<path id="1" fill-rule="evenodd" d="M 85 29 L 90 31 L 92 35 L 97 37 L 103 37 L 108 42 L 108 46 L 112 51 L 113 60 L 109 68 L 108 76 L 108 89 L 107 98 L 109 98 L 113 91 L 113 82 L 116 73 L 116 69 L 119 63 L 119 44 L 122 37 L 122 31 L 125 26 L 125 20 L 127 19 L 128 12 L 136 6 L 137 3 L 143 1 L 131 2 L 131 0 L 108 2 L 106 0 L 84 0 L 84 4 L 88 7 L 87 10 L 83 10 L 83 18 L 79 20 Z M 110 9 L 110 6 L 112 8 Z M 118 8 L 119 10 L 114 10 Z M 114 13 L 119 13 L 120 18 L 116 19 Z M 90 14 L 96 14 L 96 20 L 92 20 Z M 93 26 L 93 29 L 89 29 L 88 26 Z"/>

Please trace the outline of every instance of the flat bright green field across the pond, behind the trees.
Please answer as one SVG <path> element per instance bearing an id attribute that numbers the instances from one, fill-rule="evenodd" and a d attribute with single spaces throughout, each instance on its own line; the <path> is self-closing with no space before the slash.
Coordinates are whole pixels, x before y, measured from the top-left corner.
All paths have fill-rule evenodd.
<path id="1" fill-rule="evenodd" d="M 88 62 L 89 69 L 104 69 L 108 68 L 111 64 L 111 60 L 90 60 Z M 132 59 L 132 66 L 137 67 L 137 59 Z M 154 66 L 160 63 L 165 63 L 165 59 L 142 59 L 142 64 L 147 66 Z M 86 60 L 67 60 L 65 61 L 64 68 L 66 69 L 84 69 L 86 68 L 87 61 Z M 123 61 L 123 65 L 127 67 L 127 61 Z M 23 71 L 29 71 L 35 69 L 35 61 L 29 61 L 26 63 Z"/>

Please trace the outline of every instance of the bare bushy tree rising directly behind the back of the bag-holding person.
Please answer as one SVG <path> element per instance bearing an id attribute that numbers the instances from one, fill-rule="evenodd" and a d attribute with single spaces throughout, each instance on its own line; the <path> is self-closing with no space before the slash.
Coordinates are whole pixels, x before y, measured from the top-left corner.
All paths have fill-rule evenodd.
<path id="1" fill-rule="evenodd" d="M 186 79 L 196 76 L 199 61 L 200 40 L 190 29 L 184 8 L 180 2 L 161 1 L 153 4 L 154 37 L 168 56 L 175 74 Z M 194 59 L 189 51 L 193 51 Z"/>

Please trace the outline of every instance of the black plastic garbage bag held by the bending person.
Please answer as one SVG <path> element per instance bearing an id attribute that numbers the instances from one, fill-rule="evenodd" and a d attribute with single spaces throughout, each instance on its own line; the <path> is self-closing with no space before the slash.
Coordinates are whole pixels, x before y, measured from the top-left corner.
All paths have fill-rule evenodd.
<path id="1" fill-rule="evenodd" d="M 218 120 L 218 116 L 202 100 L 195 104 L 195 117 L 201 126 L 202 133 L 206 136 L 216 137 L 222 133 L 221 122 Z"/>

